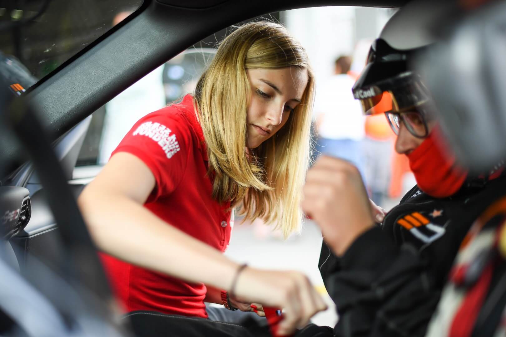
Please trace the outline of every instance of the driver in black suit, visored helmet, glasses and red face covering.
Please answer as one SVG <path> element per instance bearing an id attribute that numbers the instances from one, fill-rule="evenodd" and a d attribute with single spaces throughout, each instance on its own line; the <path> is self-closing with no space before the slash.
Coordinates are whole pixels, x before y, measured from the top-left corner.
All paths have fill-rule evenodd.
<path id="1" fill-rule="evenodd" d="M 322 156 L 307 174 L 302 206 L 322 229 L 319 267 L 340 316 L 337 336 L 425 335 L 469 228 L 506 188 L 502 165 L 470 174 L 456 163 L 423 81 L 408 69 L 434 42 L 417 34 L 445 10 L 434 8 L 415 2 L 396 13 L 353 88 L 367 114 L 387 115 L 417 185 L 378 226 L 349 162 Z"/>

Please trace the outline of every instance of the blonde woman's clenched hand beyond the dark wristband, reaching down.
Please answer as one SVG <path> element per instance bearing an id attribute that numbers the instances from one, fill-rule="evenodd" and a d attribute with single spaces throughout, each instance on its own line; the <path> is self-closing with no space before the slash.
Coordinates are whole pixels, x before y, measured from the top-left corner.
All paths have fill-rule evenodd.
<path id="1" fill-rule="evenodd" d="M 284 317 L 278 330 L 280 335 L 293 333 L 297 327 L 308 324 L 314 314 L 327 309 L 308 277 L 298 271 L 267 271 L 246 267 L 239 274 L 233 292 L 234 297 L 245 303 L 256 302 L 264 307 L 283 308 Z M 257 310 L 259 308 L 262 307 L 257 305 Z"/>

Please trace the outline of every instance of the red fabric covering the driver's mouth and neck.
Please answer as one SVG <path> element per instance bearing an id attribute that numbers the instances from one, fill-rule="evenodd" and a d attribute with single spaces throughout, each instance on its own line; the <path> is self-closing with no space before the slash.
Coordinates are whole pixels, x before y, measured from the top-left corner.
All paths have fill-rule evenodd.
<path id="1" fill-rule="evenodd" d="M 466 181 L 468 171 L 456 165 L 455 156 L 436 125 L 431 134 L 410 154 L 409 167 L 421 190 L 434 198 L 446 198 Z"/>

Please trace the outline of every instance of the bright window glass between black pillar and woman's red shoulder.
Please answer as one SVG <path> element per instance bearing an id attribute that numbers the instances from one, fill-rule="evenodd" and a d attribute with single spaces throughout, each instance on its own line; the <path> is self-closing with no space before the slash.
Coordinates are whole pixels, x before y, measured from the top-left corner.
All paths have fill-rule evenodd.
<path id="1" fill-rule="evenodd" d="M 215 53 L 213 48 L 191 47 L 94 112 L 77 166 L 107 163 L 112 151 L 141 117 L 194 91 Z"/>

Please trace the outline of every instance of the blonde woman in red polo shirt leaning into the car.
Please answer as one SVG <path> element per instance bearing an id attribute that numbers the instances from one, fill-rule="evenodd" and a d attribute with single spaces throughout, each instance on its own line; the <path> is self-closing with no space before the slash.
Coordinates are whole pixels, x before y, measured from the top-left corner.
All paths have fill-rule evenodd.
<path id="1" fill-rule="evenodd" d="M 260 303 L 285 308 L 290 332 L 325 308 L 302 274 L 221 255 L 236 206 L 299 231 L 313 92 L 303 47 L 281 25 L 250 23 L 220 44 L 193 96 L 124 137 L 78 202 L 126 311 L 207 317 L 204 300 Z"/>

